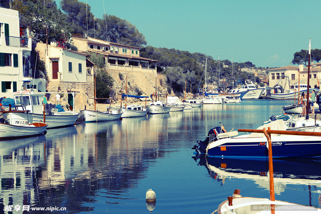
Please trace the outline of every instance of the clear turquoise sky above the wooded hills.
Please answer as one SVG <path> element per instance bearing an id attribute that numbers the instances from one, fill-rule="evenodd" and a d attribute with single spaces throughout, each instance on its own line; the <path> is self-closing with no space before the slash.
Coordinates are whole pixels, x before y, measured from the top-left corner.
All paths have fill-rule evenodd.
<path id="1" fill-rule="evenodd" d="M 81 0 L 86 2 L 86 0 Z M 56 0 L 60 5 L 59 0 Z M 103 0 L 87 0 L 97 18 Z M 105 12 L 130 21 L 147 45 L 199 52 L 256 67 L 291 64 L 301 49 L 321 49 L 320 1 L 107 1 Z"/>

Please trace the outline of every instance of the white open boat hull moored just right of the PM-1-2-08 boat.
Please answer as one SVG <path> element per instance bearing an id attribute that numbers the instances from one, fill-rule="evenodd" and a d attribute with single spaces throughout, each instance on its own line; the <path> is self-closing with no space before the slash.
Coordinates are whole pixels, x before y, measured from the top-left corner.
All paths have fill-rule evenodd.
<path id="1" fill-rule="evenodd" d="M 110 112 L 110 111 L 109 111 Z M 92 111 L 92 110 L 82 110 L 80 113 L 84 118 L 85 123 L 90 122 L 100 122 L 100 121 L 110 121 L 110 120 L 118 120 L 123 112 L 117 113 L 118 111 L 112 110 L 111 113 L 100 112 L 100 111 Z"/>

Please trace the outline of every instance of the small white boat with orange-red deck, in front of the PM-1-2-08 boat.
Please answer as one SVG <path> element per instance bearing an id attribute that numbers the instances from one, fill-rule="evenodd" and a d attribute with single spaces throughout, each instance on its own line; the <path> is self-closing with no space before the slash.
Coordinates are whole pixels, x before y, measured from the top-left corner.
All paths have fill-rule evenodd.
<path id="1" fill-rule="evenodd" d="M 44 133 L 47 127 L 47 123 L 31 123 L 21 126 L 0 123 L 0 139 L 4 140 L 36 136 Z"/>

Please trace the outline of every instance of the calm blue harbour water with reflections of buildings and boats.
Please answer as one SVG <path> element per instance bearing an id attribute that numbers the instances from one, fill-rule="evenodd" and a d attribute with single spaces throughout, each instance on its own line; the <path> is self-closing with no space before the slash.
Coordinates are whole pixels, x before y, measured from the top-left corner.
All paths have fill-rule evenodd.
<path id="1" fill-rule="evenodd" d="M 191 148 L 222 122 L 257 128 L 291 100 L 242 100 L 184 112 L 50 129 L 0 142 L 0 213 L 6 205 L 65 207 L 54 213 L 212 213 L 240 189 L 269 198 L 266 161 L 206 159 Z M 319 206 L 321 162 L 274 161 L 276 200 Z M 30 211 L 50 213 L 50 211 Z"/>

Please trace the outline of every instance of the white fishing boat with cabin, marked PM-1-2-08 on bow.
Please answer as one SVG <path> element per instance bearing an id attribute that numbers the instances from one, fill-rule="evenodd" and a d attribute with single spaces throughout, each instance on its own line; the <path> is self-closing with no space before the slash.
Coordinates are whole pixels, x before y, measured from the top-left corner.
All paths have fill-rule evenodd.
<path id="1" fill-rule="evenodd" d="M 47 128 L 57 128 L 74 125 L 79 113 L 73 111 L 57 112 L 55 105 L 42 104 L 44 92 L 28 89 L 13 93 L 15 109 L 29 112 L 6 112 L 2 116 L 12 125 L 46 122 Z M 45 109 L 44 109 L 45 108 Z M 45 111 L 45 113 L 43 113 Z"/>

